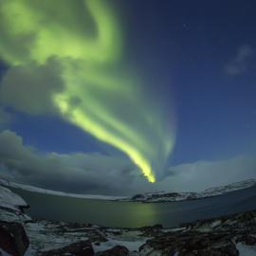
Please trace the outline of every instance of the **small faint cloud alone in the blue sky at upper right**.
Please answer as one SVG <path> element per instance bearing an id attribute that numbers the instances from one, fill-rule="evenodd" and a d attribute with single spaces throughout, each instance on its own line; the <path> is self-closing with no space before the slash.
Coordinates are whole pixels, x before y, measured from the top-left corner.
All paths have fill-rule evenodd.
<path id="1" fill-rule="evenodd" d="M 251 46 L 240 46 L 236 56 L 225 66 L 225 72 L 230 76 L 241 75 L 250 67 L 255 50 Z"/>

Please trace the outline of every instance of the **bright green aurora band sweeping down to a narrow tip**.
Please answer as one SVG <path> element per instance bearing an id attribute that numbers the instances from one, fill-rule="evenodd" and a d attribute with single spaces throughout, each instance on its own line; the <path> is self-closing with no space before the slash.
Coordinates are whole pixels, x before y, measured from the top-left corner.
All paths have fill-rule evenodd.
<path id="1" fill-rule="evenodd" d="M 1 0 L 0 38 L 9 66 L 54 59 L 64 82 L 52 95 L 60 115 L 128 155 L 155 182 L 174 147 L 174 127 L 141 82 L 121 72 L 121 29 L 106 1 Z"/>

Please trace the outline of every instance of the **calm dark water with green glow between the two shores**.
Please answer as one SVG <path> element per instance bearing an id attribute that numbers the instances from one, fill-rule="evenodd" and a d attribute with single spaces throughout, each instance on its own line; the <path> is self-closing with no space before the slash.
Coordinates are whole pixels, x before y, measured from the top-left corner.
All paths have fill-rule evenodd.
<path id="1" fill-rule="evenodd" d="M 170 203 L 111 202 L 12 189 L 29 204 L 33 218 L 138 228 L 162 224 L 173 228 L 197 219 L 256 210 L 256 186 L 205 199 Z"/>

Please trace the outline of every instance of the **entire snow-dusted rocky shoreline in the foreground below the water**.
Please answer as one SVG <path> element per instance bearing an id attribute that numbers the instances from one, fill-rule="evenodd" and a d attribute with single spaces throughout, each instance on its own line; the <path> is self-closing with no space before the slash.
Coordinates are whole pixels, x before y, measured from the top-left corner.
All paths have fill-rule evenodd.
<path id="1" fill-rule="evenodd" d="M 0 255 L 5 256 L 256 255 L 256 210 L 198 220 L 177 229 L 161 225 L 110 229 L 32 220 L 17 206 L 1 207 L 0 220 Z"/>

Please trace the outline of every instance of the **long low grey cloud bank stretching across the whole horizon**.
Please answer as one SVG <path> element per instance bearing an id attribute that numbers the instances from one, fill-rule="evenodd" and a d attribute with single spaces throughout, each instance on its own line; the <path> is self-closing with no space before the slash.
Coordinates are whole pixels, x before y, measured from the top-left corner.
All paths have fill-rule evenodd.
<path id="1" fill-rule="evenodd" d="M 0 177 L 62 192 L 135 194 L 137 192 L 201 191 L 256 177 L 255 155 L 197 161 L 170 167 L 154 184 L 128 160 L 111 155 L 47 153 L 25 145 L 22 137 L 0 133 Z"/>

